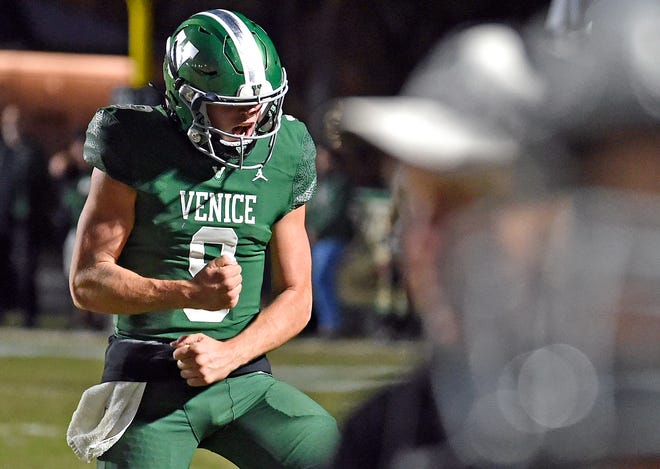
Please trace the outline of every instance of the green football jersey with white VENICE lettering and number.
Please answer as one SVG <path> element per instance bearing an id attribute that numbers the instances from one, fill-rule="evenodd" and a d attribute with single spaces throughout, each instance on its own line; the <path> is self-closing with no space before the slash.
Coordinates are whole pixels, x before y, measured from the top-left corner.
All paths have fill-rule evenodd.
<path id="1" fill-rule="evenodd" d="M 245 164 L 268 151 L 257 141 Z M 124 315 L 117 334 L 175 339 L 203 332 L 227 339 L 259 313 L 271 227 L 306 203 L 316 187 L 316 150 L 307 128 L 285 116 L 262 170 L 233 170 L 195 150 L 162 106 L 110 106 L 89 124 L 85 159 L 137 190 L 135 226 L 118 263 L 158 279 L 189 279 L 211 259 L 233 255 L 243 288 L 231 310 L 191 308 Z"/>

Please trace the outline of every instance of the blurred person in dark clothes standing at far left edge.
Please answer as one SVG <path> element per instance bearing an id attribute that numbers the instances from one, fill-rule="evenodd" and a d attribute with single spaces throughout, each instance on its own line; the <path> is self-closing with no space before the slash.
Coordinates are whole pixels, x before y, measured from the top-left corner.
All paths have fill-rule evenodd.
<path id="1" fill-rule="evenodd" d="M 48 163 L 28 134 L 28 122 L 28 116 L 15 104 L 2 110 L 0 308 L 18 308 L 22 325 L 34 327 L 39 316 L 37 269 L 49 236 L 52 196 Z"/>

